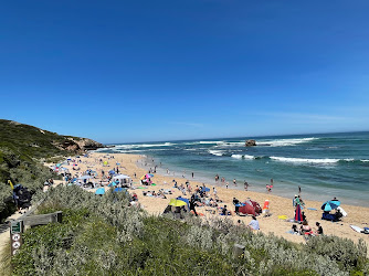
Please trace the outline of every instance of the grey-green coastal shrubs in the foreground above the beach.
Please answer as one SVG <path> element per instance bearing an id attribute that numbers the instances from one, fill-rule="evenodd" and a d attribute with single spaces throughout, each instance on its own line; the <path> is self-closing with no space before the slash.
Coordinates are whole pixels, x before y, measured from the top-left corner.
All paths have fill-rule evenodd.
<path id="1" fill-rule="evenodd" d="M 12 259 L 14 275 L 365 275 L 367 247 L 334 236 L 295 244 L 226 219 L 176 221 L 128 206 L 129 194 L 97 197 L 56 187 L 39 213 L 63 222 L 33 227 Z M 245 246 L 234 256 L 234 244 Z"/>

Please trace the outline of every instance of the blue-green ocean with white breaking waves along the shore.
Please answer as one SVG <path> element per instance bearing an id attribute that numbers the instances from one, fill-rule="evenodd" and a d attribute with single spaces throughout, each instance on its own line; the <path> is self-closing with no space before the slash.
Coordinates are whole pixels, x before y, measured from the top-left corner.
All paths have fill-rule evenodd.
<path id="1" fill-rule="evenodd" d="M 255 139 L 255 147 L 245 147 Z M 302 189 L 304 199 L 330 200 L 369 206 L 369 132 L 289 135 L 222 139 L 116 144 L 101 152 L 145 155 L 161 162 L 159 173 L 182 176 L 214 184 L 219 174 L 230 188 L 292 198 Z M 148 163 L 147 167 L 152 167 Z M 232 181 L 236 179 L 238 187 Z"/>

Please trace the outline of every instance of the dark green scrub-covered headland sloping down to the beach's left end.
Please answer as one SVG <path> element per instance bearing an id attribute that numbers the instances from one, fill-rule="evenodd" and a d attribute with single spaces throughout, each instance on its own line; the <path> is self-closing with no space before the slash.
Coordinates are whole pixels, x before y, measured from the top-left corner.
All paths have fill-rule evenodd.
<path id="1" fill-rule="evenodd" d="M 8 180 L 21 183 L 34 193 L 45 179 L 55 177 L 43 162 L 102 147 L 89 139 L 62 136 L 12 120 L 0 119 L 0 221 L 15 210 Z"/>

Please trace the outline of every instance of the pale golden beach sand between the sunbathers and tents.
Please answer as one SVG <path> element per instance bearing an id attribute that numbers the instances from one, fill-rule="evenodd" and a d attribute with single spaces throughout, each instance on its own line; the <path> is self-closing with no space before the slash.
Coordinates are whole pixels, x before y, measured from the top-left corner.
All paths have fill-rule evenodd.
<path id="1" fill-rule="evenodd" d="M 114 159 L 107 159 L 105 158 L 106 156 L 114 156 Z M 96 162 L 96 159 L 103 159 L 108 161 L 108 166 L 103 167 L 98 162 Z M 78 163 L 78 167 L 81 168 L 77 173 L 85 171 L 86 169 L 93 169 L 98 172 L 98 176 L 101 176 L 101 171 L 104 170 L 105 173 L 107 173 L 109 170 L 114 169 L 117 167 L 116 163 L 120 163 L 119 167 L 119 173 L 127 174 L 133 178 L 134 180 L 134 185 L 140 187 L 139 184 L 139 178 L 144 174 L 147 173 L 146 169 L 139 168 L 139 164 L 143 164 L 144 161 L 143 156 L 138 155 L 125 155 L 125 153 L 98 153 L 98 152 L 93 152 L 89 155 L 88 158 L 81 158 L 83 161 L 81 164 Z M 71 173 L 75 173 L 76 171 L 72 170 L 72 166 L 67 167 L 70 168 Z M 137 178 L 134 178 L 134 173 L 136 172 Z M 187 173 L 188 180 L 190 181 L 190 185 L 192 187 L 192 190 L 197 185 L 202 185 L 202 183 L 193 181 L 191 179 L 190 173 Z M 152 182 L 156 183 L 157 185 L 155 187 L 147 187 L 147 189 L 141 190 L 129 190 L 130 193 L 136 192 L 138 195 L 138 200 L 141 204 L 141 206 L 150 214 L 154 215 L 160 215 L 166 206 L 169 203 L 170 199 L 175 199 L 179 195 L 182 195 L 182 193 L 173 188 L 172 180 L 176 179 L 178 182 L 178 185 L 181 183 L 184 184 L 186 178 L 180 177 L 173 177 L 173 176 L 160 176 L 160 174 L 155 174 L 152 178 Z M 96 183 L 98 183 L 98 180 L 95 180 Z M 218 191 L 219 198 L 223 201 L 223 203 L 220 203 L 220 206 L 223 206 L 224 204 L 228 205 L 229 210 L 234 211 L 234 206 L 232 204 L 233 197 L 239 199 L 241 202 L 245 201 L 247 198 L 251 200 L 254 200 L 260 203 L 260 205 L 263 208 L 264 201 L 268 200 L 270 201 L 270 213 L 271 216 L 264 217 L 263 215 L 259 216 L 259 222 L 260 222 L 260 227 L 261 231 L 265 234 L 273 233 L 276 236 L 282 236 L 288 241 L 296 242 L 296 243 L 303 243 L 305 242 L 303 236 L 298 235 L 293 235 L 289 233 L 286 233 L 291 230 L 292 224 L 291 222 L 286 222 L 284 220 L 278 219 L 278 215 L 286 215 L 287 219 L 293 219 L 294 217 L 294 208 L 292 203 L 292 199 L 286 199 L 283 197 L 274 195 L 273 192 L 271 193 L 261 193 L 261 192 L 253 192 L 253 191 L 240 191 L 235 189 L 225 189 L 225 187 L 219 187 L 214 185 L 214 183 L 205 183 L 208 188 L 211 189 L 210 195 L 213 197 L 212 194 L 212 188 L 215 187 Z M 230 188 L 233 184 L 230 183 Z M 172 194 L 167 194 L 167 199 L 160 199 L 160 198 L 152 198 L 152 197 L 144 197 L 143 191 L 158 191 L 159 189 L 170 189 L 172 191 Z M 277 190 L 278 187 L 274 185 L 273 190 Z M 339 195 L 337 195 L 339 197 Z M 183 198 L 190 198 L 190 194 L 183 195 Z M 302 198 L 304 199 L 304 193 L 302 193 Z M 339 199 L 339 198 L 338 198 Z M 329 199 L 327 199 L 329 200 Z M 307 221 L 309 225 L 313 229 L 315 227 L 316 222 L 320 222 L 324 232 L 326 235 L 336 235 L 339 237 L 347 237 L 350 238 L 355 242 L 358 242 L 359 238 L 365 240 L 367 243 L 367 246 L 369 247 L 369 235 L 362 234 L 355 232 L 351 227 L 350 224 L 365 227 L 368 226 L 369 224 L 369 208 L 361 208 L 361 206 L 354 206 L 354 205 L 346 205 L 345 202 L 341 202 L 341 208 L 348 213 L 348 216 L 344 217 L 341 222 L 328 222 L 328 221 L 323 221 L 321 219 L 321 206 L 323 202 L 318 201 L 305 201 L 305 206 L 306 208 L 314 208 L 317 211 L 313 210 L 307 210 L 306 208 L 304 209 L 305 215 L 307 217 Z M 198 213 L 203 213 L 204 216 L 211 216 L 211 215 L 219 215 L 218 212 L 217 214 L 211 214 L 210 212 L 205 210 L 210 210 L 211 208 L 197 208 Z M 212 209 L 215 210 L 215 209 Z M 236 222 L 238 220 L 243 221 L 245 224 L 249 224 L 250 221 L 252 220 L 251 216 L 228 216 L 229 219 L 233 220 Z M 298 225 L 299 227 L 299 225 Z"/>

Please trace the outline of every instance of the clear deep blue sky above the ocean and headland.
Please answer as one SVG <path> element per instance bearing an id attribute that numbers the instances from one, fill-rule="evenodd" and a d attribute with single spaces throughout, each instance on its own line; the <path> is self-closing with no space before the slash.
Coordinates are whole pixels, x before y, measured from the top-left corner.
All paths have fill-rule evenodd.
<path id="1" fill-rule="evenodd" d="M 368 0 L 4 1 L 0 118 L 102 142 L 368 130 Z"/>

